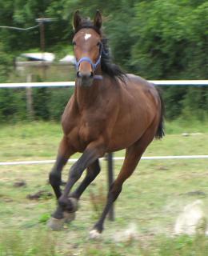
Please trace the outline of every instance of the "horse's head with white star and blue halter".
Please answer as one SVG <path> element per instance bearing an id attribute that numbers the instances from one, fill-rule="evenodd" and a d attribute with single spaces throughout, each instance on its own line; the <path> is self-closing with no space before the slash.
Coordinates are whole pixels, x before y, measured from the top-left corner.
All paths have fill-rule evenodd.
<path id="1" fill-rule="evenodd" d="M 80 86 L 91 86 L 94 74 L 100 71 L 102 54 L 101 29 L 102 16 L 97 10 L 94 22 L 74 13 L 74 56 L 76 58 L 77 78 Z"/>

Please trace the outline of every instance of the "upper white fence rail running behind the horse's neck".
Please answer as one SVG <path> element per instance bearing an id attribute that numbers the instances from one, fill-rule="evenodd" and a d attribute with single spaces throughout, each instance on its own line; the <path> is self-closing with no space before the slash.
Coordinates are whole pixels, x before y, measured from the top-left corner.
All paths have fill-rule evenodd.
<path id="1" fill-rule="evenodd" d="M 208 86 L 208 80 L 152 80 L 158 86 Z M 63 87 L 74 86 L 75 82 L 21 82 L 0 83 L 0 88 Z"/>

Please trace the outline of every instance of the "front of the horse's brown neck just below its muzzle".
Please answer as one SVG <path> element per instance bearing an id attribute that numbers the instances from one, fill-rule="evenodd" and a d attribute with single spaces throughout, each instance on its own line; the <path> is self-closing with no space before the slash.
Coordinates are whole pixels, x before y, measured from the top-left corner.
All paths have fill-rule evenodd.
<path id="1" fill-rule="evenodd" d="M 98 80 L 94 80 L 90 87 L 78 86 L 78 82 L 76 81 L 74 96 L 80 110 L 86 109 L 96 102 L 101 86 L 102 81 Z"/>

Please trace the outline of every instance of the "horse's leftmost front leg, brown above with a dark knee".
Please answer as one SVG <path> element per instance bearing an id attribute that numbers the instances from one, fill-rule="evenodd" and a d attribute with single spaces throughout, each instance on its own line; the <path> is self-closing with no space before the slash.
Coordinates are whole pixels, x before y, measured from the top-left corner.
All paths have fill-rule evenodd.
<path id="1" fill-rule="evenodd" d="M 49 175 L 50 185 L 53 187 L 57 199 L 62 195 L 60 188 L 62 183 L 62 169 L 72 154 L 74 154 L 74 151 L 70 149 L 67 138 L 63 137 L 58 148 L 56 162 Z"/>

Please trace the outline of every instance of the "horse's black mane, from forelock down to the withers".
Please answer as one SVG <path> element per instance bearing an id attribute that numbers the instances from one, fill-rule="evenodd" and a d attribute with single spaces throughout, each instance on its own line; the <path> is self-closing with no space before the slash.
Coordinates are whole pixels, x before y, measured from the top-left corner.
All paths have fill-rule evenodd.
<path id="1" fill-rule="evenodd" d="M 101 55 L 101 70 L 103 74 L 108 75 L 114 80 L 120 79 L 122 82 L 126 82 L 126 74 L 121 70 L 119 66 L 112 62 L 110 49 L 107 43 L 107 39 L 103 37 L 102 31 L 94 26 L 90 19 L 82 18 L 81 25 L 74 30 L 74 34 L 78 33 L 79 30 L 89 28 L 95 30 L 102 37 L 102 55 Z"/>

